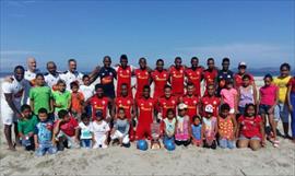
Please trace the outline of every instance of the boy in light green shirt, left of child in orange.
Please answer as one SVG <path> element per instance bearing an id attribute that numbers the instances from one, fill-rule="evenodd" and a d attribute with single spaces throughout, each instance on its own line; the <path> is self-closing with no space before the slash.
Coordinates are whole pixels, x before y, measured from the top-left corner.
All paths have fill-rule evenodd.
<path id="1" fill-rule="evenodd" d="M 63 80 L 57 82 L 58 90 L 52 93 L 55 117 L 58 119 L 59 110 L 68 110 L 71 107 L 71 93 L 66 90 L 67 84 Z"/>

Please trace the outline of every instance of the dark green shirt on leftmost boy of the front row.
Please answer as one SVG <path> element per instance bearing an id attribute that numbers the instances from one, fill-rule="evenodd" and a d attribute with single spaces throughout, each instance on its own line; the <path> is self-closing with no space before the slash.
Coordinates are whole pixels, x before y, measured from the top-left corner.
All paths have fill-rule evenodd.
<path id="1" fill-rule="evenodd" d="M 31 118 L 23 118 L 17 121 L 17 130 L 22 132 L 24 136 L 30 132 L 34 132 L 35 126 L 38 122 L 37 116 L 33 115 Z"/>

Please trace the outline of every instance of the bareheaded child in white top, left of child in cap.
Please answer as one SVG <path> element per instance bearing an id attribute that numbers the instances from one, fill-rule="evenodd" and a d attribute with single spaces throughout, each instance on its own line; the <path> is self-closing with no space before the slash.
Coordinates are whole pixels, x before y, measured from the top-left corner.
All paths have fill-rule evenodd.
<path id="1" fill-rule="evenodd" d="M 87 114 L 81 115 L 81 122 L 79 122 L 80 141 L 82 148 L 92 148 L 94 144 L 93 124 Z M 78 134 L 79 132 L 76 132 Z M 78 137 L 76 137 L 78 139 Z"/>

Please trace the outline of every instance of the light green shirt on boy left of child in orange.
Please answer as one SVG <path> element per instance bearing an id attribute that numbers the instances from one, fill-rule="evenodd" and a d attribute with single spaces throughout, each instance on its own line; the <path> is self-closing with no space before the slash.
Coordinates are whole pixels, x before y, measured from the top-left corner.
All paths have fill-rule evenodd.
<path id="1" fill-rule="evenodd" d="M 59 112 L 61 109 L 67 110 L 69 107 L 69 101 L 71 99 L 71 93 L 69 91 L 64 91 L 63 93 L 55 91 L 52 95 L 56 104 L 61 105 L 60 107 L 56 107 L 55 112 Z"/>

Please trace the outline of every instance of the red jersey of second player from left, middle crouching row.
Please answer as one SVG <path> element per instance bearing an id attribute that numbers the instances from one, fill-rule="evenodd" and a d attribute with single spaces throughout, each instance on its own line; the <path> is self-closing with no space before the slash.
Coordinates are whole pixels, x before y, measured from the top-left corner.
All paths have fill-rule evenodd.
<path id="1" fill-rule="evenodd" d="M 126 117 L 128 119 L 131 119 L 131 109 L 132 109 L 132 106 L 133 106 L 133 98 L 128 96 L 128 97 L 123 97 L 123 96 L 120 96 L 120 97 L 116 97 L 115 98 L 115 106 L 116 106 L 116 110 L 118 113 L 118 109 L 120 107 L 122 107 L 125 109 L 125 114 L 126 114 Z"/>

